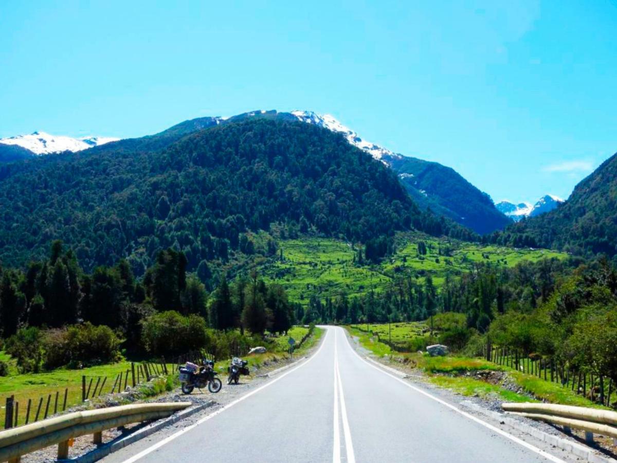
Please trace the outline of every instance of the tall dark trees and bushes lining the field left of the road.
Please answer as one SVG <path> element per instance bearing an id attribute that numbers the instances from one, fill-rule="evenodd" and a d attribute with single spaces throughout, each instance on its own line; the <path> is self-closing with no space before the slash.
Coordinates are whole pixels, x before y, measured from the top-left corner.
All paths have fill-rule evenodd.
<path id="1" fill-rule="evenodd" d="M 223 277 L 209 292 L 186 265 L 182 252 L 166 249 L 141 279 L 125 260 L 85 273 L 73 251 L 54 241 L 49 256 L 25 272 L 0 269 L 4 349 L 22 372 L 114 361 L 120 349 L 169 356 L 210 348 L 220 355 L 231 341 L 263 342 L 265 330 L 287 332 L 296 314 L 302 317 L 283 287 L 266 285 L 257 272 L 233 285 Z"/>

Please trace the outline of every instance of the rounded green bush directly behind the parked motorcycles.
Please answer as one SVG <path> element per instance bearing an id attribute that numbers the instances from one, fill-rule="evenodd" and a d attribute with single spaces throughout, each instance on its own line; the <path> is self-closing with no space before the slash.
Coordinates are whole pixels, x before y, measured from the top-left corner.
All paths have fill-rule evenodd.
<path id="1" fill-rule="evenodd" d="M 167 311 L 150 315 L 141 323 L 141 341 L 151 354 L 180 355 L 212 346 L 205 320 L 199 315 L 184 317 Z"/>

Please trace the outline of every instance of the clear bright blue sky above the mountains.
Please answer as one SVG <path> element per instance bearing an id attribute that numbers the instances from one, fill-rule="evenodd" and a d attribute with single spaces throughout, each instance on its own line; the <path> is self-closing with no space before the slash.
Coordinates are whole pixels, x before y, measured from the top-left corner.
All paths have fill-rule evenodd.
<path id="1" fill-rule="evenodd" d="M 617 151 L 615 0 L 176 3 L 0 2 L 0 137 L 311 109 L 495 201 Z"/>

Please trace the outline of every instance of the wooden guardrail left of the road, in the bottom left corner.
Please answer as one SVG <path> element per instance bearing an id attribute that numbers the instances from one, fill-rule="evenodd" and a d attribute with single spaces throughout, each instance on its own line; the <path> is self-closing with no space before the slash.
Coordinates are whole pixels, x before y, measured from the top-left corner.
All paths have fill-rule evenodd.
<path id="1" fill-rule="evenodd" d="M 191 406 L 190 402 L 133 404 L 73 412 L 0 431 L 0 461 L 19 462 L 22 455 L 58 444 L 58 459 L 68 458 L 69 441 L 92 434 L 102 443 L 102 431 L 129 423 L 165 418 Z"/>

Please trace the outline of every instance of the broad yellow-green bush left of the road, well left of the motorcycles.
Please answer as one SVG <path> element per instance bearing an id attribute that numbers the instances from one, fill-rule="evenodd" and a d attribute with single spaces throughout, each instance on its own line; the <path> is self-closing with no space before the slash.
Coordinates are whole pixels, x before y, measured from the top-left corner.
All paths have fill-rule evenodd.
<path id="1" fill-rule="evenodd" d="M 91 323 L 47 330 L 43 336 L 44 366 L 54 369 L 63 365 L 115 362 L 120 357 L 120 339 L 106 325 Z"/>

